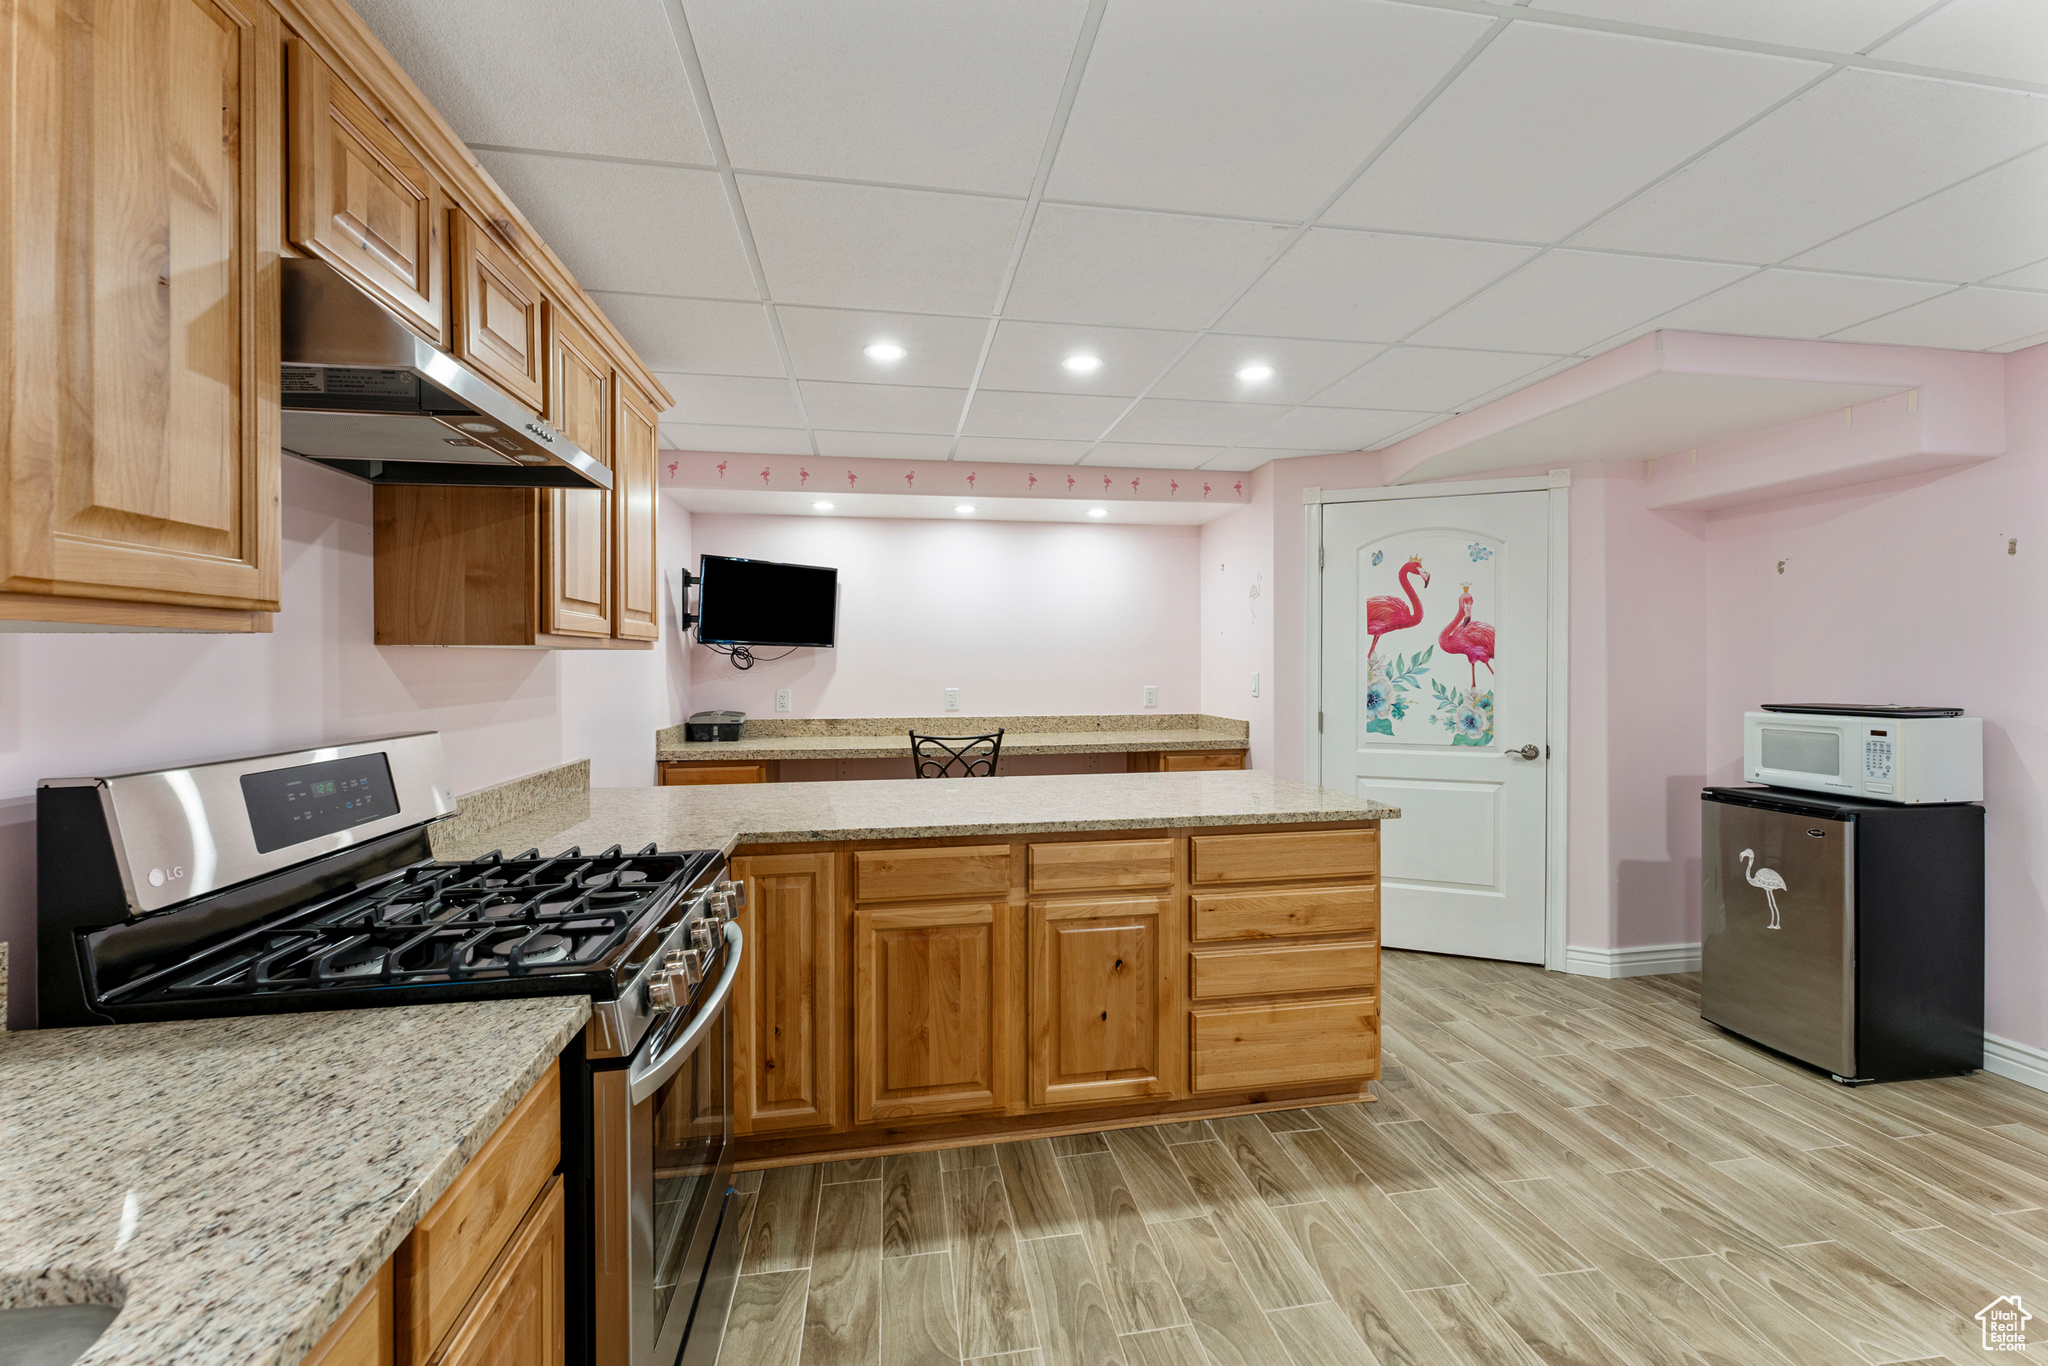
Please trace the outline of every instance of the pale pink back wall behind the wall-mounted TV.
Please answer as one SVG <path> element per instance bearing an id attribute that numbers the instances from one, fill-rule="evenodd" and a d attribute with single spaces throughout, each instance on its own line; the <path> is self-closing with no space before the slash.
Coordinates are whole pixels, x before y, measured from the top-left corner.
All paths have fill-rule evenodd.
<path id="1" fill-rule="evenodd" d="M 772 717 L 778 688 L 797 717 L 940 715 L 944 688 L 961 688 L 963 717 L 1139 713 L 1145 684 L 1163 713 L 1202 705 L 1196 526 L 694 514 L 690 543 L 690 563 L 840 571 L 836 649 L 739 672 L 696 645 L 698 711 Z M 664 547 L 664 563 L 682 559 Z"/>

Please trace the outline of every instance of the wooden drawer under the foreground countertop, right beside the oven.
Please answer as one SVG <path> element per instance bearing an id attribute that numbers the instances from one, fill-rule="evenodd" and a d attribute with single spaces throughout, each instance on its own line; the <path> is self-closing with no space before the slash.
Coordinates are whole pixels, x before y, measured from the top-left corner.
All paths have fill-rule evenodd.
<path id="1" fill-rule="evenodd" d="M 561 1073 L 547 1069 L 399 1243 L 399 1366 L 426 1362 L 561 1161 Z"/>

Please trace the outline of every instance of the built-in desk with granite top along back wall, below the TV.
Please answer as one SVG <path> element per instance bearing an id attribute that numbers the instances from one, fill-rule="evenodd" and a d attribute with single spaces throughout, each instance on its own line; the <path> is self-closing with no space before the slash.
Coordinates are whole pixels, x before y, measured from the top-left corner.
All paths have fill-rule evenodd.
<path id="1" fill-rule="evenodd" d="M 821 782 L 909 776 L 909 731 L 1004 731 L 1008 776 L 1057 772 L 1210 772 L 1245 768 L 1251 727 L 1229 717 L 770 717 L 739 739 L 688 741 L 684 727 L 655 733 L 664 786 L 721 782 Z"/>

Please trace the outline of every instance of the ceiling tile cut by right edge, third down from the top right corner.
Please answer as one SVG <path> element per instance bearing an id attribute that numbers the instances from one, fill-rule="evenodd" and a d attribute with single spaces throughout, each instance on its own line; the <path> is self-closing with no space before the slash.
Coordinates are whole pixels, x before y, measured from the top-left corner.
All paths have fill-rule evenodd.
<path id="1" fill-rule="evenodd" d="M 2048 147 L 1817 246 L 1794 264 L 1970 285 L 2040 260 L 2048 246 L 2042 223 Z"/>

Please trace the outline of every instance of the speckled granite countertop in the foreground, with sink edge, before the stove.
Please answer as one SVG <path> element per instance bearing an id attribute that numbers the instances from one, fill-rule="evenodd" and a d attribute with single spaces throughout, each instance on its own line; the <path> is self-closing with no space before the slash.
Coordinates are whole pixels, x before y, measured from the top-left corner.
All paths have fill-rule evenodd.
<path id="1" fill-rule="evenodd" d="M 0 1038 L 0 1307 L 80 1366 L 291 1366 L 590 1018 L 584 997 Z"/>

